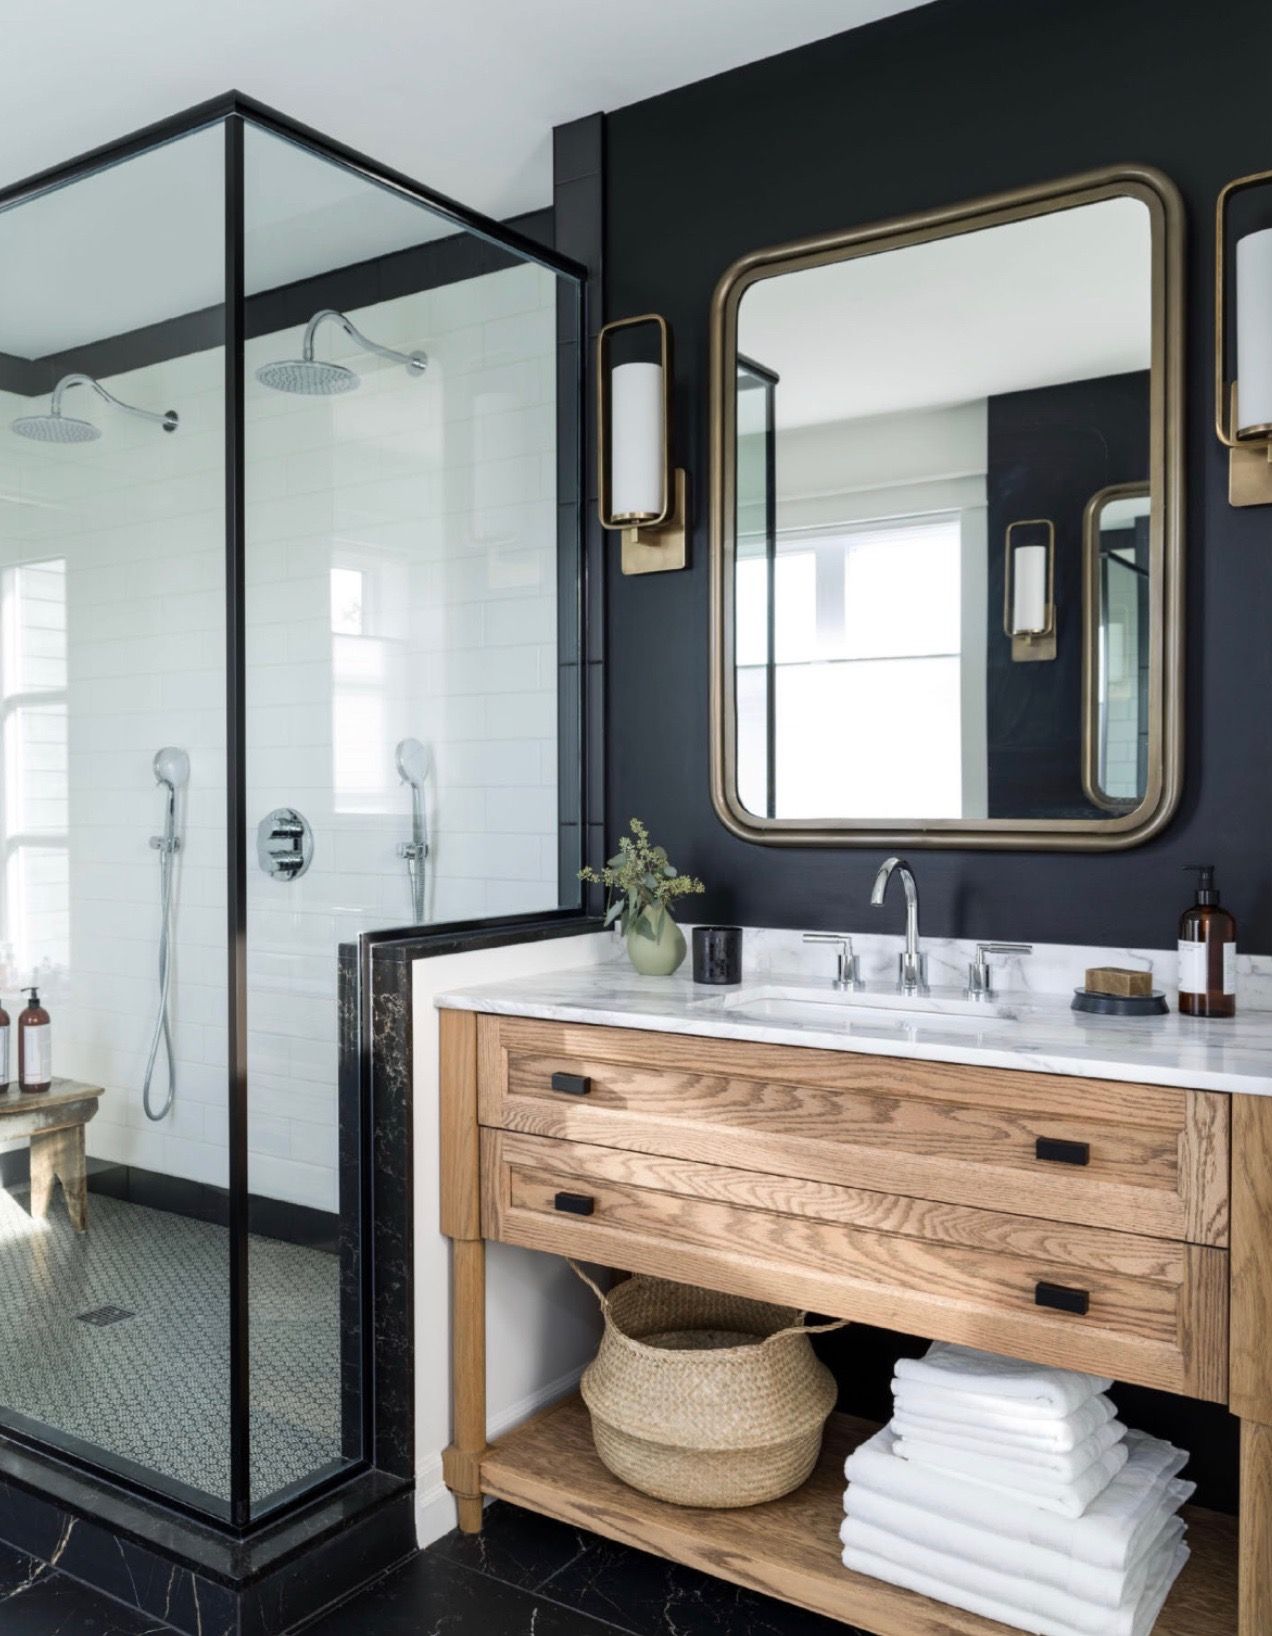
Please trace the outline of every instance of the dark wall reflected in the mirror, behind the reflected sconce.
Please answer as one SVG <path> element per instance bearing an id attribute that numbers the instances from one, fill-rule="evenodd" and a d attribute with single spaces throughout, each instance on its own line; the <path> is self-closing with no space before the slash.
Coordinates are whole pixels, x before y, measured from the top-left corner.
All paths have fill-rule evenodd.
<path id="1" fill-rule="evenodd" d="M 991 818 L 1105 818 L 1082 793 L 1082 515 L 1110 483 L 1148 481 L 1146 371 L 999 393 L 988 404 L 986 725 Z M 1056 528 L 1056 656 L 1015 661 L 1002 631 L 1007 527 Z M 1017 543 L 1040 540 L 1017 532 Z"/>

